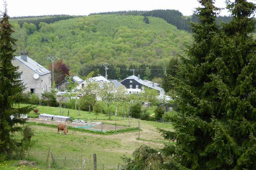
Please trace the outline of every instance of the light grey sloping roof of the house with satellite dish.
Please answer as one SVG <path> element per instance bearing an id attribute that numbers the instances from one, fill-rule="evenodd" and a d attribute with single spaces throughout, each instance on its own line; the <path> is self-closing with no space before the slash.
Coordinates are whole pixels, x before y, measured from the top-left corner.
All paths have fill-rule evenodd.
<path id="1" fill-rule="evenodd" d="M 44 68 L 31 58 L 27 56 L 27 61 L 24 61 L 21 56 L 15 56 L 16 60 L 20 61 L 21 63 L 25 64 L 27 67 L 32 69 L 35 73 L 38 73 L 38 75 L 46 75 L 48 73 L 51 73 L 48 69 Z"/>

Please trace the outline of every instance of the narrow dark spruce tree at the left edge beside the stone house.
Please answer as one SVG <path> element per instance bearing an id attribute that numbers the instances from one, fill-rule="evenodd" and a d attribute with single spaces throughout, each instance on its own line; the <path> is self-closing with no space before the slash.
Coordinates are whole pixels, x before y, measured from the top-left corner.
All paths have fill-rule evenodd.
<path id="1" fill-rule="evenodd" d="M 21 98 L 24 86 L 17 80 L 21 73 L 17 72 L 18 67 L 13 66 L 13 44 L 12 25 L 9 24 L 9 16 L 6 10 L 0 21 L 0 151 L 6 155 L 12 155 L 13 151 L 19 151 L 21 142 L 11 136 L 11 132 L 21 131 L 21 126 L 26 119 L 21 119 L 20 114 L 30 112 L 31 107 L 15 108 L 16 101 Z M 11 118 L 13 115 L 14 118 Z"/>

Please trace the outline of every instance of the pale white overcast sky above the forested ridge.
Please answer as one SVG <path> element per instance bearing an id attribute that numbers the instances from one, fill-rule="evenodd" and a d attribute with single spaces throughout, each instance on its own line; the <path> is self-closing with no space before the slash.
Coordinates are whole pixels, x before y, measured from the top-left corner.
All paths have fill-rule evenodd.
<path id="1" fill-rule="evenodd" d="M 199 6 L 197 0 L 5 0 L 9 16 L 40 15 L 88 15 L 99 12 L 120 10 L 175 9 L 183 15 L 192 15 Z M 255 0 L 249 0 L 254 1 Z M 0 10 L 4 10 L 4 1 L 0 0 Z M 224 8 L 226 0 L 216 0 L 216 7 Z M 229 15 L 225 10 L 221 15 Z"/>

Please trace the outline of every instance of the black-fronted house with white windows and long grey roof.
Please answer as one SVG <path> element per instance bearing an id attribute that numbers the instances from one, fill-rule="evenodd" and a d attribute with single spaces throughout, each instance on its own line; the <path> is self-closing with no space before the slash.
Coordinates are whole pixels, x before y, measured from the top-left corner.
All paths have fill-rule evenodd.
<path id="1" fill-rule="evenodd" d="M 138 75 L 138 77 L 132 75 L 130 77 L 127 77 L 120 83 L 126 86 L 129 94 L 140 94 L 140 92 L 143 92 L 144 87 L 149 87 L 151 89 L 157 90 L 160 97 L 163 97 L 163 95 L 165 94 L 165 90 L 162 87 L 155 86 L 154 82 L 148 83 L 148 81 L 141 80 L 140 75 Z"/>

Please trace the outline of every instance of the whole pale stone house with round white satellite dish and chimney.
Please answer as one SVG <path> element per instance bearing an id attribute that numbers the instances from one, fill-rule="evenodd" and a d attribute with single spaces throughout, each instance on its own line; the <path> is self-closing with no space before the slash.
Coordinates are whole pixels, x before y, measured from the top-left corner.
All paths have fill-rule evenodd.
<path id="1" fill-rule="evenodd" d="M 19 67 L 18 72 L 21 72 L 21 76 L 18 79 L 22 80 L 26 87 L 24 92 L 31 92 L 41 97 L 43 92 L 51 91 L 51 72 L 29 58 L 27 52 L 15 56 L 12 64 Z"/>

